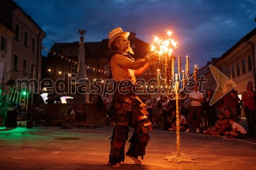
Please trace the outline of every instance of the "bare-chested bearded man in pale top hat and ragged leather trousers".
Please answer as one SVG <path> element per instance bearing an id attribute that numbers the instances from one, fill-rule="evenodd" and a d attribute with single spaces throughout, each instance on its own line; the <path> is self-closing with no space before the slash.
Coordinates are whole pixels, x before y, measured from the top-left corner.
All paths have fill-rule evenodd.
<path id="1" fill-rule="evenodd" d="M 130 147 L 125 153 L 127 157 L 133 159 L 136 164 L 142 162 L 138 156 L 145 155 L 145 148 L 149 141 L 148 130 L 152 132 L 152 123 L 148 118 L 145 104 L 134 93 L 136 78 L 141 75 L 150 65 L 157 61 L 156 55 L 149 55 L 143 59 L 135 61 L 130 52 L 134 54 L 127 37 L 129 32 L 122 32 L 121 28 L 116 28 L 109 33 L 109 48 L 113 54 L 108 58 L 111 66 L 111 74 L 115 80 L 113 113 L 115 128 L 111 140 L 111 151 L 109 165 L 111 167 L 121 167 L 120 162 L 124 161 L 124 146 L 128 139 L 129 126 L 134 128 L 133 135 L 129 140 Z"/>

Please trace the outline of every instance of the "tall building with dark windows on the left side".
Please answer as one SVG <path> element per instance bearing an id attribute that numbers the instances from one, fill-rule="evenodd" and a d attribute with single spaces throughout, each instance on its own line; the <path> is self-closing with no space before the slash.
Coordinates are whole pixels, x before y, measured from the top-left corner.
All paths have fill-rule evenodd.
<path id="1" fill-rule="evenodd" d="M 0 36 L 0 62 L 4 66 L 2 90 L 19 83 L 19 79 L 34 79 L 32 86 L 37 88 L 41 80 L 41 49 L 45 32 L 17 4 L 3 0 L 0 1 Z"/>

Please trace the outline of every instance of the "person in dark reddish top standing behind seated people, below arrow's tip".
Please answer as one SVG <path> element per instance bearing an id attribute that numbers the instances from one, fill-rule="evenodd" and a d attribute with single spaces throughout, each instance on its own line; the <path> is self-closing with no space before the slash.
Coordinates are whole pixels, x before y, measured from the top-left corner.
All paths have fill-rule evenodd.
<path id="1" fill-rule="evenodd" d="M 238 91 L 232 88 L 231 84 L 227 84 L 227 93 L 224 95 L 224 108 L 231 110 L 231 116 L 237 117 Z"/>

